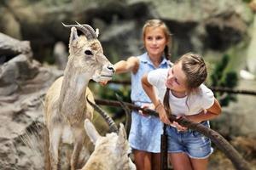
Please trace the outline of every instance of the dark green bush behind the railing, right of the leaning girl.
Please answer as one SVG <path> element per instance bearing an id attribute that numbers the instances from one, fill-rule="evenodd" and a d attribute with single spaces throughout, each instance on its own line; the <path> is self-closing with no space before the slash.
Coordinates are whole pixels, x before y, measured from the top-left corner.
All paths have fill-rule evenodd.
<path id="1" fill-rule="evenodd" d="M 224 54 L 221 61 L 216 64 L 211 75 L 212 87 L 236 88 L 238 77 L 236 71 L 227 71 L 229 61 L 230 55 Z M 230 101 L 236 101 L 234 94 L 218 92 L 215 95 L 222 106 L 229 105 Z"/>

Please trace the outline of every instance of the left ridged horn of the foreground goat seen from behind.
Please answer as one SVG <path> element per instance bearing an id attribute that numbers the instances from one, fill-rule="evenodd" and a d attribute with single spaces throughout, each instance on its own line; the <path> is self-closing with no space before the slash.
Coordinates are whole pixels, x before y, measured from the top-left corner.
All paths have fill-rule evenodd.
<path id="1" fill-rule="evenodd" d="M 88 96 L 86 97 L 88 103 L 98 112 L 101 114 L 101 116 L 104 118 L 104 120 L 108 123 L 108 126 L 110 128 L 110 131 L 111 132 L 114 132 L 114 133 L 119 133 L 119 129 L 118 127 L 116 126 L 115 122 L 113 122 L 113 119 L 108 116 L 108 114 L 102 110 L 102 108 L 100 108 L 98 105 L 92 103 L 89 99 L 88 99 Z"/>

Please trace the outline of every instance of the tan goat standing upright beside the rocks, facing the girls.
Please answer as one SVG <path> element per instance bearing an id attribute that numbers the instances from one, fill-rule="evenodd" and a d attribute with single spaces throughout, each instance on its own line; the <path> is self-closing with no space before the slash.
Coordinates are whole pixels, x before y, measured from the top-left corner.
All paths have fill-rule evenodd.
<path id="1" fill-rule="evenodd" d="M 63 24 L 63 23 L 62 23 Z M 44 100 L 44 123 L 46 125 L 45 169 L 59 168 L 61 143 L 73 144 L 70 166 L 75 170 L 84 139 L 84 120 L 92 119 L 93 108 L 86 96 L 93 95 L 87 88 L 90 79 L 95 82 L 109 81 L 113 77 L 113 65 L 103 54 L 97 33 L 89 25 L 64 25 L 71 27 L 69 56 L 63 77 L 49 88 Z M 83 34 L 79 36 L 78 31 Z"/>

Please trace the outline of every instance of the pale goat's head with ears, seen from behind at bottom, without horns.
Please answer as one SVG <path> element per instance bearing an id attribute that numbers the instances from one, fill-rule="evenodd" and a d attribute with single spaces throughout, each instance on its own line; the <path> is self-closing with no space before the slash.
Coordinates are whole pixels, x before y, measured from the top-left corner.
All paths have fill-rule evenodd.
<path id="1" fill-rule="evenodd" d="M 107 133 L 102 137 L 94 125 L 84 121 L 84 128 L 90 140 L 95 144 L 95 150 L 90 155 L 82 170 L 135 170 L 136 166 L 128 154 L 131 151 L 126 139 L 125 127 L 120 123 L 119 133 Z"/>

